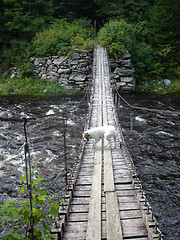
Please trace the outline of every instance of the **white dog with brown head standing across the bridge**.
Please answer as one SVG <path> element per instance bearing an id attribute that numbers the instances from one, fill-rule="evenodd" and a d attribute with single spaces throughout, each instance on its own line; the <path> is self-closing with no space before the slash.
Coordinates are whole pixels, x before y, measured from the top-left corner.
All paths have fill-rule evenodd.
<path id="1" fill-rule="evenodd" d="M 89 141 L 89 139 L 94 139 L 94 144 L 92 146 L 92 148 L 95 146 L 95 144 L 97 142 L 100 141 L 100 139 L 102 138 L 105 138 L 107 141 L 108 141 L 108 144 L 105 146 L 107 147 L 110 142 L 110 138 L 114 138 L 114 142 L 115 142 L 115 147 L 116 148 L 116 135 L 117 135 L 117 132 L 116 132 L 116 129 L 115 127 L 113 126 L 102 126 L 102 127 L 95 127 L 95 128 L 91 128 L 87 131 L 85 131 L 83 133 L 83 138 L 86 139 L 87 141 Z"/>

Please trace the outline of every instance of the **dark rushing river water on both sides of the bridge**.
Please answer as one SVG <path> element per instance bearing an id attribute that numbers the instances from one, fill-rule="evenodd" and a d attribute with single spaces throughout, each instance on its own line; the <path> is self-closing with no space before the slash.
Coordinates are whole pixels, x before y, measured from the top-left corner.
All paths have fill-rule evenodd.
<path id="1" fill-rule="evenodd" d="M 136 106 L 180 111 L 180 96 L 131 94 Z M 63 195 L 64 153 L 62 113 L 67 122 L 68 170 L 76 161 L 87 113 L 81 97 L 0 99 L 0 118 L 33 118 L 27 132 L 32 167 L 52 194 Z M 118 116 L 127 147 L 165 240 L 180 239 L 180 124 L 179 115 L 132 110 L 121 100 Z M 130 116 L 133 131 L 130 130 Z M 17 198 L 25 174 L 24 129 L 21 122 L 0 121 L 0 204 Z"/>

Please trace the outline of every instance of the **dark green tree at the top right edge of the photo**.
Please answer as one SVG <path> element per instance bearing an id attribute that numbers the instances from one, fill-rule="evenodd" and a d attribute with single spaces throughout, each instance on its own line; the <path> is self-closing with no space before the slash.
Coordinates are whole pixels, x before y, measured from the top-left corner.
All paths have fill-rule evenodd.
<path id="1" fill-rule="evenodd" d="M 178 0 L 157 0 L 150 10 L 149 41 L 161 74 L 174 73 L 179 62 L 180 4 Z"/>

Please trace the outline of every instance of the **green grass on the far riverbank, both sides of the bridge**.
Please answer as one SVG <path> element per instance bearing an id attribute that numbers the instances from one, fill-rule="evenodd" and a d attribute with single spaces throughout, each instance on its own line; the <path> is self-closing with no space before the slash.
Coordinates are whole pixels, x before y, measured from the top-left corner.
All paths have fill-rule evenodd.
<path id="1" fill-rule="evenodd" d="M 150 82 L 137 84 L 136 91 L 150 92 L 156 94 L 180 93 L 180 79 L 171 80 L 166 86 L 164 81 L 152 80 Z M 68 96 L 83 94 L 77 88 L 59 86 L 55 81 L 47 81 L 37 77 L 26 77 L 13 79 L 0 76 L 0 96 L 26 95 L 32 97 L 41 96 Z"/>

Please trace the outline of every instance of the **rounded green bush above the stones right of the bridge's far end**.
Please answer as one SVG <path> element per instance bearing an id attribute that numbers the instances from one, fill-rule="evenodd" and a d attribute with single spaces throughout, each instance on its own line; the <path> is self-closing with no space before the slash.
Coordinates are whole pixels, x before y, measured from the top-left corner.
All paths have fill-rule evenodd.
<path id="1" fill-rule="evenodd" d="M 122 57 L 128 50 L 132 55 L 136 78 L 138 80 L 147 78 L 147 71 L 153 67 L 151 46 L 143 41 L 140 30 L 133 24 L 128 24 L 124 20 L 110 21 L 100 29 L 97 39 L 99 44 L 108 47 L 110 55 L 116 59 Z"/>

